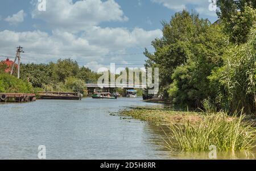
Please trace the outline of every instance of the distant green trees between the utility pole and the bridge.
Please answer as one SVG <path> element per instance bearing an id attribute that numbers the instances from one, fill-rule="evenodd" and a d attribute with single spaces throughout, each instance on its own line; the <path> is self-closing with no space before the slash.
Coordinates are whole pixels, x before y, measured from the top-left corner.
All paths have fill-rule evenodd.
<path id="1" fill-rule="evenodd" d="M 22 80 L 28 80 L 34 87 L 41 87 L 48 91 L 70 91 L 71 86 L 66 86 L 65 82 L 70 82 L 71 78 L 79 85 L 83 82 L 97 82 L 97 73 L 82 66 L 81 68 L 76 61 L 71 59 L 58 60 L 57 63 L 50 62 L 49 64 L 22 64 L 20 65 L 20 73 Z M 76 87 L 75 89 L 84 90 L 84 86 Z"/>

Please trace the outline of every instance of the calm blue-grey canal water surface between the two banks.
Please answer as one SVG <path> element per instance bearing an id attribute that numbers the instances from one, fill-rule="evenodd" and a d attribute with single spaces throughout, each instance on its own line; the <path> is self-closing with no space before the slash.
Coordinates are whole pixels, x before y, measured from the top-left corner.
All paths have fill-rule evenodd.
<path id="1" fill-rule="evenodd" d="M 0 104 L 0 159 L 38 159 L 39 145 L 46 146 L 47 159 L 208 159 L 208 153 L 168 152 L 159 145 L 161 128 L 111 114 L 152 105 L 141 98 Z M 222 153 L 219 159 L 254 155 Z"/>

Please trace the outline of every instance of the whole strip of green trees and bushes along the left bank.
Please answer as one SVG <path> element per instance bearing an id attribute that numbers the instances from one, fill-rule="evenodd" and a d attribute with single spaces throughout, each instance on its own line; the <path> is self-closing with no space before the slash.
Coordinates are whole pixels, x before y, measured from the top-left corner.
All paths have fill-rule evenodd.
<path id="1" fill-rule="evenodd" d="M 21 64 L 20 80 L 6 74 L 1 65 L 0 92 L 36 93 L 38 91 L 80 91 L 86 93 L 86 82 L 97 82 L 97 73 L 84 66 L 80 67 L 71 59 L 58 60 L 49 64 Z"/>

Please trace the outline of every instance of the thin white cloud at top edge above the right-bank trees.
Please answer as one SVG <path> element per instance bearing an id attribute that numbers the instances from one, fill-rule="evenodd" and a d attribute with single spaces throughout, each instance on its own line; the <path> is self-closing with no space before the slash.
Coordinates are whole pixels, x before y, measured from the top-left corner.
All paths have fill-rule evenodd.
<path id="1" fill-rule="evenodd" d="M 215 11 L 209 10 L 210 2 L 208 0 L 151 0 L 152 2 L 156 2 L 162 4 L 168 9 L 174 11 L 181 11 L 183 9 L 187 9 L 188 5 L 195 6 L 196 12 L 203 15 L 208 16 L 216 16 Z"/>

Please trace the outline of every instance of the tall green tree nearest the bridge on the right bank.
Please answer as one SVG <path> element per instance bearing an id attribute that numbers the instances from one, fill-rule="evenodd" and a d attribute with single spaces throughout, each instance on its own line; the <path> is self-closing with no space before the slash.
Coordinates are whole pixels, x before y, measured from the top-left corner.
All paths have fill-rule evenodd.
<path id="1" fill-rule="evenodd" d="M 152 45 L 155 53 L 147 51 L 146 68 L 159 68 L 159 85 L 164 97 L 168 97 L 169 85 L 172 84 L 172 74 L 177 66 L 184 65 L 192 56 L 191 43 L 197 41 L 201 34 L 207 34 L 210 27 L 207 19 L 200 19 L 197 14 L 188 11 L 177 12 L 169 23 L 163 22 L 163 37 L 155 39 Z M 200 41 L 200 40 L 198 40 Z"/>

